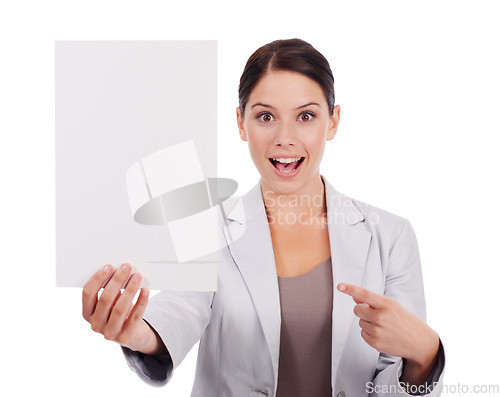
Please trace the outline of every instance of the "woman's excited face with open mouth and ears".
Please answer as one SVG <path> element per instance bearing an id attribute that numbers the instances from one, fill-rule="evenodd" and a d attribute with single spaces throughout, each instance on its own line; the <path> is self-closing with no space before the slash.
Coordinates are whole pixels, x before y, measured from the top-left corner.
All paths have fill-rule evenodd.
<path id="1" fill-rule="evenodd" d="M 314 80 L 290 71 L 266 73 L 249 95 L 244 118 L 237 108 L 241 139 L 248 142 L 264 187 L 297 194 L 320 186 L 319 165 L 339 117 L 338 105 L 329 114 Z"/>

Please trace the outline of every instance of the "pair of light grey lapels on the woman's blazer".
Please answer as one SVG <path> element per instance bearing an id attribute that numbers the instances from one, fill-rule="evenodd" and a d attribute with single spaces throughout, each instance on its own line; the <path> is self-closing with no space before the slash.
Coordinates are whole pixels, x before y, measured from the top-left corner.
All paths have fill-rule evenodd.
<path id="1" fill-rule="evenodd" d="M 339 292 L 336 285 L 361 285 L 371 233 L 355 225 L 364 216 L 352 199 L 339 193 L 321 176 L 326 192 L 328 232 L 332 255 L 332 386 L 335 385 L 347 336 L 357 325 L 354 301 Z M 281 310 L 278 278 L 271 232 L 259 182 L 227 213 L 230 253 L 252 297 L 271 355 L 275 381 L 278 377 Z M 238 238 L 235 238 L 238 236 Z M 357 330 L 356 330 L 357 332 Z M 275 383 L 277 384 L 277 383 Z"/>

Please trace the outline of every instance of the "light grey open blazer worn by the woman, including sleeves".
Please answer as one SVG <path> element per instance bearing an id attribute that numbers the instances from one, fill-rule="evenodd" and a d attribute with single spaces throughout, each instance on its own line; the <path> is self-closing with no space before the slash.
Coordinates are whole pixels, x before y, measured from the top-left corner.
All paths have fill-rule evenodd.
<path id="1" fill-rule="evenodd" d="M 407 396 L 398 390 L 403 360 L 379 353 L 361 337 L 347 282 L 389 296 L 425 320 L 417 240 L 410 222 L 326 186 L 333 271 L 332 396 Z M 276 266 L 260 181 L 227 212 L 231 236 L 221 250 L 217 292 L 164 291 L 144 319 L 170 355 L 123 348 L 129 366 L 152 384 L 167 383 L 200 341 L 192 397 L 275 396 L 280 348 Z M 429 377 L 439 396 L 444 351 Z M 427 392 L 429 389 L 427 390 Z M 392 394 L 391 394 L 392 393 Z M 416 394 L 423 395 L 425 393 Z"/>

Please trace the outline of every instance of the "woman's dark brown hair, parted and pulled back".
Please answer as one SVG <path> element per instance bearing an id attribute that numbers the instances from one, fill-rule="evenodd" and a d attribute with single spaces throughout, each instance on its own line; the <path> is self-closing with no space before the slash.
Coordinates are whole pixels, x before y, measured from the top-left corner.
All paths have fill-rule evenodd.
<path id="1" fill-rule="evenodd" d="M 326 58 L 311 44 L 300 39 L 275 40 L 255 51 L 245 65 L 238 87 L 242 116 L 248 97 L 262 76 L 271 70 L 289 70 L 301 73 L 322 88 L 330 115 L 335 106 L 333 73 Z"/>

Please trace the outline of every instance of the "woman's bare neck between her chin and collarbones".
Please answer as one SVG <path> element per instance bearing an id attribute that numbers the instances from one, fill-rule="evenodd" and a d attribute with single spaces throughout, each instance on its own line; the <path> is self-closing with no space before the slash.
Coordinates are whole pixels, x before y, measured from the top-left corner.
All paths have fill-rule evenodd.
<path id="1" fill-rule="evenodd" d="M 300 190 L 289 194 L 275 192 L 261 179 L 264 205 L 270 213 L 307 213 L 311 216 L 326 216 L 325 185 L 319 172 Z"/>

